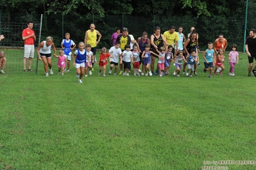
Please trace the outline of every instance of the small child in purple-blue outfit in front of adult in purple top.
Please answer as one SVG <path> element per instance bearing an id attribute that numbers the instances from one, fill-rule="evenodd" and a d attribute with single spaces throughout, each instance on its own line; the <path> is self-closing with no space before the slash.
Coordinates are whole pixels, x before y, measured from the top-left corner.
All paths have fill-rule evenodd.
<path id="1" fill-rule="evenodd" d="M 155 52 L 153 52 L 153 51 L 151 51 L 151 50 L 149 50 L 150 49 L 150 45 L 149 44 L 147 44 L 146 46 L 145 46 L 145 50 L 142 52 L 142 55 L 141 55 L 141 57 L 142 58 L 144 58 L 143 59 L 143 61 L 144 61 L 144 63 L 143 63 L 143 65 L 145 66 L 145 72 L 146 72 L 146 76 L 148 76 L 148 73 L 149 73 L 149 75 L 150 76 L 152 76 L 152 73 L 151 73 L 151 71 L 150 71 L 150 69 L 149 69 L 149 65 L 150 65 L 150 54 L 154 54 L 155 56 L 158 56 L 158 54 L 155 54 Z M 159 56 L 158 56 L 159 57 Z M 141 73 L 141 75 L 144 75 L 144 73 L 142 72 Z"/>

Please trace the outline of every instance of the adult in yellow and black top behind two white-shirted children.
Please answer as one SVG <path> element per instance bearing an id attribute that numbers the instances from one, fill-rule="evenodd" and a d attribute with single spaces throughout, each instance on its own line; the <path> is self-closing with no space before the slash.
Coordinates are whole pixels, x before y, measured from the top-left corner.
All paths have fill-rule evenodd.
<path id="1" fill-rule="evenodd" d="M 117 36 L 116 42 L 120 43 L 120 49 L 122 51 L 125 50 L 125 45 L 130 45 L 131 43 L 131 37 L 128 35 L 128 29 L 126 27 L 123 27 L 122 35 Z M 119 75 L 123 74 L 123 63 L 119 63 L 120 73 Z"/>

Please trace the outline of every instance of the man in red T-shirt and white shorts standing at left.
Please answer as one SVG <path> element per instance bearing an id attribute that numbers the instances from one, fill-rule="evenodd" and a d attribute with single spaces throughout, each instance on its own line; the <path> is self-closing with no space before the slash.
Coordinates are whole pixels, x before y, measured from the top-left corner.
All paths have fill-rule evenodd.
<path id="1" fill-rule="evenodd" d="M 23 58 L 23 70 L 24 72 L 33 71 L 31 69 L 32 59 L 34 58 L 35 47 L 34 42 L 36 40 L 35 32 L 33 31 L 33 22 L 27 23 L 28 27 L 22 31 L 22 40 L 24 40 L 24 58 Z M 26 61 L 28 59 L 28 70 L 26 70 Z"/>

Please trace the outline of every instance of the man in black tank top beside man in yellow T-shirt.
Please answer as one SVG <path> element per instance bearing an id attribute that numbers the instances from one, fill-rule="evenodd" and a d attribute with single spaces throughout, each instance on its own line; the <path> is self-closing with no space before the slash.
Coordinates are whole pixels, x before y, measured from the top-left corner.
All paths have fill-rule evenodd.
<path id="1" fill-rule="evenodd" d="M 160 33 L 161 29 L 160 27 L 156 26 L 155 27 L 155 33 L 150 36 L 150 50 L 158 53 L 156 49 L 160 49 L 160 47 L 167 46 L 166 38 L 164 38 L 164 35 Z M 154 54 L 151 54 L 151 73 L 154 75 L 154 65 L 155 65 L 155 56 Z M 158 69 L 156 73 L 158 72 Z"/>

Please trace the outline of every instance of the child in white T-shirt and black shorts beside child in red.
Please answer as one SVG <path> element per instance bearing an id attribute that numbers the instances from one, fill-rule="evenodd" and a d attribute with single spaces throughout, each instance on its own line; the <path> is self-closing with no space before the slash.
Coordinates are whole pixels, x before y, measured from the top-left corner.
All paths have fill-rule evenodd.
<path id="1" fill-rule="evenodd" d="M 112 58 L 110 58 L 110 68 L 108 73 L 111 74 L 112 73 L 112 69 L 115 66 L 115 70 L 114 70 L 114 75 L 116 75 L 117 72 L 117 66 L 118 66 L 118 61 L 120 58 L 120 55 L 122 53 L 122 50 L 120 49 L 120 42 L 115 42 L 115 46 L 111 47 L 108 52 L 110 54 L 112 54 Z"/>

